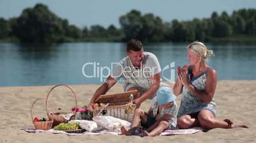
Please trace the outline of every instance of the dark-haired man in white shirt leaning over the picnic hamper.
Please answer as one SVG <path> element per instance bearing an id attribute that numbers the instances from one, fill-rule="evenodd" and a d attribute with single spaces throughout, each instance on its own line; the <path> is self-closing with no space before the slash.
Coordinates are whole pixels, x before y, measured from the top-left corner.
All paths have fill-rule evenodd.
<path id="1" fill-rule="evenodd" d="M 160 82 L 160 65 L 157 57 L 143 51 L 143 44 L 139 40 L 127 42 L 127 57 L 113 67 L 111 75 L 107 78 L 89 103 L 89 110 L 94 111 L 94 104 L 100 95 L 106 92 L 117 83 L 124 82 L 124 91 L 138 90 L 139 97 L 134 99 L 136 108 L 146 99 L 152 99 L 160 86 L 167 86 Z"/>

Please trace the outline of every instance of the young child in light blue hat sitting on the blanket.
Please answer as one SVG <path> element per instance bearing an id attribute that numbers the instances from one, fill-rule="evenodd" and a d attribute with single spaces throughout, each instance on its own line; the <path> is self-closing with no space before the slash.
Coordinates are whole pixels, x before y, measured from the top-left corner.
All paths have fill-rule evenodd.
<path id="1" fill-rule="evenodd" d="M 166 129 L 176 128 L 177 104 L 176 96 L 169 87 L 160 87 L 157 96 L 152 99 L 148 113 L 142 109 L 136 109 L 132 118 L 130 130 L 121 128 L 124 135 L 155 136 L 160 135 Z M 139 127 L 141 123 L 141 127 Z"/>

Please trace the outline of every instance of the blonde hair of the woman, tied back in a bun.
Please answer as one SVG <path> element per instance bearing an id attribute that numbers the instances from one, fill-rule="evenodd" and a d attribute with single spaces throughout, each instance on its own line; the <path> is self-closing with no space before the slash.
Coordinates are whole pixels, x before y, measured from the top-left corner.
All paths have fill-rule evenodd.
<path id="1" fill-rule="evenodd" d="M 212 50 L 208 50 L 207 47 L 203 44 L 203 42 L 192 42 L 187 46 L 193 53 L 199 54 L 204 61 L 207 61 L 208 57 L 213 54 Z"/>

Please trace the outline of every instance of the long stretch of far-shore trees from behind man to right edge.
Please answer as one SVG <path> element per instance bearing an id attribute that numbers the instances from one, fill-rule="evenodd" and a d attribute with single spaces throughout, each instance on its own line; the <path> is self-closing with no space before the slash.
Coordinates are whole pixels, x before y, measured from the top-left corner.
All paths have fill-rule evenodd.
<path id="1" fill-rule="evenodd" d="M 234 11 L 232 16 L 223 11 L 220 15 L 213 12 L 211 18 L 192 21 L 162 22 L 152 13 L 141 15 L 139 11 L 132 10 L 120 17 L 124 40 L 139 39 L 149 42 L 173 41 L 183 42 L 191 40 L 211 40 L 239 34 L 255 34 L 255 9 L 240 9 Z"/>

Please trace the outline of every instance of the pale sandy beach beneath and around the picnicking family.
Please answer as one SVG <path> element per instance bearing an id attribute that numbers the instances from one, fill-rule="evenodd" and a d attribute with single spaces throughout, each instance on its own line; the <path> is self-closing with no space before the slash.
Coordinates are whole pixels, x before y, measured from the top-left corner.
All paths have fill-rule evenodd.
<path id="1" fill-rule="evenodd" d="M 256 80 L 219 81 L 215 92 L 217 117 L 230 118 L 235 123 L 250 127 L 221 129 L 192 135 L 173 135 L 159 137 L 136 137 L 124 135 L 75 135 L 38 133 L 29 134 L 21 128 L 33 127 L 31 121 L 31 104 L 37 98 L 45 98 L 53 87 L 0 87 L 0 142 L 255 142 L 256 140 Z M 88 104 L 99 85 L 70 85 L 75 91 L 78 107 Z M 122 85 L 115 85 L 108 93 L 122 92 Z M 177 103 L 180 104 L 180 96 Z M 70 111 L 75 106 L 73 94 L 65 88 L 56 89 L 50 94 L 53 109 Z M 145 101 L 141 108 L 148 110 L 150 101 Z M 46 117 L 44 102 L 34 106 L 34 116 Z"/>

